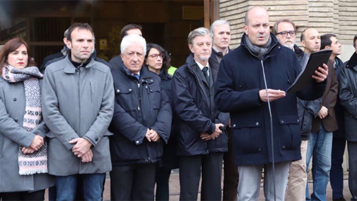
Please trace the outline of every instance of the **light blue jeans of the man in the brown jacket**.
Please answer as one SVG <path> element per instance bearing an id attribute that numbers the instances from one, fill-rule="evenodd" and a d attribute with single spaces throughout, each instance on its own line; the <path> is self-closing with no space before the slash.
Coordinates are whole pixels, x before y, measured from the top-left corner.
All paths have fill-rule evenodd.
<path id="1" fill-rule="evenodd" d="M 326 200 L 326 187 L 331 169 L 332 136 L 332 132 L 327 132 L 322 124 L 317 133 L 310 133 L 306 152 L 306 172 L 308 173 L 312 156 L 313 192 L 311 200 Z M 306 185 L 305 196 L 306 200 L 310 200 L 308 185 Z"/>

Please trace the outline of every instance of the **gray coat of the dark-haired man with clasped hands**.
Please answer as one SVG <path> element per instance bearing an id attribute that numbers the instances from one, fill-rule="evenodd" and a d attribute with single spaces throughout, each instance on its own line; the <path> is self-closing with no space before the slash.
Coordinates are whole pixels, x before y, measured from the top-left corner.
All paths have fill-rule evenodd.
<path id="1" fill-rule="evenodd" d="M 114 111 L 109 67 L 91 60 L 76 70 L 68 56 L 47 66 L 42 87 L 42 113 L 50 132 L 49 173 L 56 176 L 111 170 L 108 131 Z M 91 162 L 82 163 L 70 144 L 82 137 L 92 143 Z"/>

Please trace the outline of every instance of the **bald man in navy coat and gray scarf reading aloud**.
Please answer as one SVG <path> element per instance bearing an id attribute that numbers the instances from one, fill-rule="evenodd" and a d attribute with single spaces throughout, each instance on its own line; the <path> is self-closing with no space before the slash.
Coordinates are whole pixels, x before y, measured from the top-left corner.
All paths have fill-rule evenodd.
<path id="1" fill-rule="evenodd" d="M 285 94 L 301 71 L 290 49 L 270 34 L 269 16 L 262 7 L 247 11 L 241 45 L 223 57 L 217 76 L 215 103 L 230 112 L 235 163 L 238 166 L 238 200 L 257 200 L 262 168 L 267 200 L 284 200 L 290 162 L 301 159 L 300 120 L 296 97 L 321 97 L 327 66 L 319 67 L 304 90 Z M 267 89 L 262 65 L 265 67 Z M 272 119 L 268 109 L 271 102 Z M 271 126 L 273 138 L 271 138 Z M 271 146 L 272 142 L 274 146 Z M 273 179 L 273 155 L 275 180 Z M 274 182 L 273 182 L 274 181 Z M 274 188 L 275 186 L 275 188 Z"/>

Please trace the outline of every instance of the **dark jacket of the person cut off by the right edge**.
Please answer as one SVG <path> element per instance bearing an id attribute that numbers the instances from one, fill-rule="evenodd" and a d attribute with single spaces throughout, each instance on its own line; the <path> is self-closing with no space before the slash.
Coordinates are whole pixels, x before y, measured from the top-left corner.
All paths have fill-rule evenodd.
<path id="1" fill-rule="evenodd" d="M 357 54 L 353 53 L 340 70 L 339 89 L 341 105 L 345 108 L 345 137 L 357 142 Z"/>

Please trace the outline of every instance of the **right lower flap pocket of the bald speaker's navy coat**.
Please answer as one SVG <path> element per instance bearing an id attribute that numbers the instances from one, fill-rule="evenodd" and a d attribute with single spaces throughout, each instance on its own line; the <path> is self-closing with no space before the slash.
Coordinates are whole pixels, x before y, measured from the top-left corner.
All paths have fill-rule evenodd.
<path id="1" fill-rule="evenodd" d="M 279 132 L 280 149 L 295 149 L 300 147 L 301 129 L 300 119 L 296 114 L 278 114 L 281 129 Z"/>

